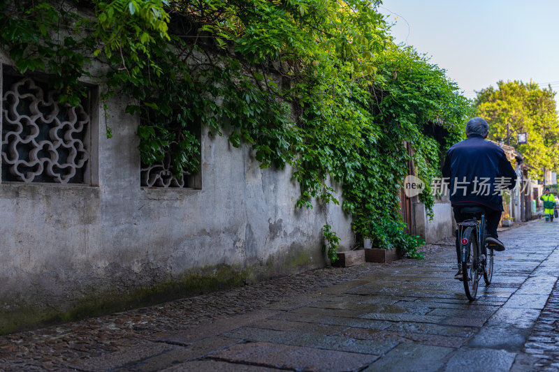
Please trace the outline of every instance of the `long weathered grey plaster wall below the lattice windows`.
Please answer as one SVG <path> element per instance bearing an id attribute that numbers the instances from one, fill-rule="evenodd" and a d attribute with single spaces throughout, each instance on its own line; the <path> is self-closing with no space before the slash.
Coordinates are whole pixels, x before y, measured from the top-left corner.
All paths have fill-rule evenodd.
<path id="1" fill-rule="evenodd" d="M 0 182 L 0 332 L 324 267 L 326 223 L 353 243 L 340 206 L 296 209 L 291 170 L 225 137 L 201 136 L 201 190 L 141 188 L 139 118 L 108 105 L 92 114 L 91 186 Z"/>

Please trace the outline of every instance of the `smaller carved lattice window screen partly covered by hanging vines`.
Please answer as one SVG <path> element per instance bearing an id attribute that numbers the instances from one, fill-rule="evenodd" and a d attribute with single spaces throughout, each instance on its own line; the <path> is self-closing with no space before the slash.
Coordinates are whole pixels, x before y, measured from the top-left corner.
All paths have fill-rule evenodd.
<path id="1" fill-rule="evenodd" d="M 176 142 L 171 142 L 173 147 Z M 140 178 L 141 186 L 148 188 L 198 188 L 196 186 L 196 174 L 184 172 L 181 178 L 177 178 L 173 174 L 170 163 L 169 148 L 165 151 L 165 158 L 153 165 L 142 164 Z"/>

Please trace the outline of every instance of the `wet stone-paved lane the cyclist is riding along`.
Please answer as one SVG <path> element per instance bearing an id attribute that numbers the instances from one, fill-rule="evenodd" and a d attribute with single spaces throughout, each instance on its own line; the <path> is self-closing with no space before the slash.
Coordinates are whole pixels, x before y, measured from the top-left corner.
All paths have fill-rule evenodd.
<path id="1" fill-rule="evenodd" d="M 475 302 L 454 248 L 0 337 L 1 371 L 559 371 L 559 223 L 500 234 Z"/>

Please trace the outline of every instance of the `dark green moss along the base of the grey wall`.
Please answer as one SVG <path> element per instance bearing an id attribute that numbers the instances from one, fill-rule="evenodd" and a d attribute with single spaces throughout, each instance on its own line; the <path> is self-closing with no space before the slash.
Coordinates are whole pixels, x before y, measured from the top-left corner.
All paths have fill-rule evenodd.
<path id="1" fill-rule="evenodd" d="M 261 281 L 278 274 L 291 274 L 311 267 L 312 260 L 307 253 L 294 249 L 290 249 L 289 253 L 281 259 L 270 258 L 263 265 L 251 265 L 245 268 L 230 265 L 204 267 L 187 274 L 170 277 L 155 285 L 133 288 L 128 292 L 109 288 L 103 292 L 91 290 L 87 295 L 70 295 L 69 297 L 74 297 L 74 300 L 66 310 L 20 302 L 10 306 L 8 310 L 0 309 L 0 334 L 160 304 L 238 287 L 245 285 L 247 281 Z"/>

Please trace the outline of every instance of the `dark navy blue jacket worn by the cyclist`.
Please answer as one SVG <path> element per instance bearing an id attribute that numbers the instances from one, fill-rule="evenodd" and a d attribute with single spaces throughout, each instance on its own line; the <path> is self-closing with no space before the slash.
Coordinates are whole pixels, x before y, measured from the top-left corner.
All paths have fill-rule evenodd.
<path id="1" fill-rule="evenodd" d="M 516 185 L 516 172 L 504 151 L 477 134 L 447 151 L 442 177 L 449 181 L 453 206 L 473 203 L 498 211 L 502 211 L 500 191 Z"/>

